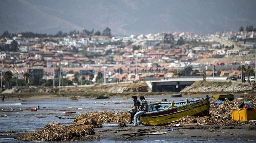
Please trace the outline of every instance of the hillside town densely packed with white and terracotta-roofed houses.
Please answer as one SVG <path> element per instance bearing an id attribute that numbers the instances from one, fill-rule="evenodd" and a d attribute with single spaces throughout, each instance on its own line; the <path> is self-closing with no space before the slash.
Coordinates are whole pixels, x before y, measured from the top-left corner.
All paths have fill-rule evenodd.
<path id="1" fill-rule="evenodd" d="M 140 82 L 213 74 L 244 78 L 255 74 L 254 32 L 218 32 L 209 36 L 190 32 L 137 36 L 77 32 L 35 38 L 6 33 L 9 38 L 3 34 L 0 40 L 5 88 Z"/>

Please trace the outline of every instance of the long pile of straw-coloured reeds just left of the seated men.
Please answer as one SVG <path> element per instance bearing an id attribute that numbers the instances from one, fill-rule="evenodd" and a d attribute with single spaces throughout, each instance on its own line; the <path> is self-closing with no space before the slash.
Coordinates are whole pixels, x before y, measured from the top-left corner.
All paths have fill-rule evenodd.
<path id="1" fill-rule="evenodd" d="M 103 112 L 89 112 L 89 113 L 83 113 L 78 115 L 75 120 L 72 122 L 74 124 L 80 124 L 81 122 L 84 122 L 83 120 L 86 119 L 95 119 L 97 122 L 129 122 L 130 120 L 130 113 L 126 112 L 118 112 L 118 113 L 112 113 L 108 111 Z M 98 124 L 98 123 L 97 123 Z"/>

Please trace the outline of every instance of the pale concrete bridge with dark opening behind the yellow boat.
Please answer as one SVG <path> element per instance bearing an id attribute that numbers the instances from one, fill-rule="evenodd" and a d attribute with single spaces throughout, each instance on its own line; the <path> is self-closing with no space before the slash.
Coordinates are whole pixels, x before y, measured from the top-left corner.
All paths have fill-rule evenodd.
<path id="1" fill-rule="evenodd" d="M 207 81 L 227 81 L 227 77 L 206 77 Z M 177 77 L 170 79 L 145 79 L 151 92 L 180 92 L 195 81 L 203 81 L 203 77 Z"/>

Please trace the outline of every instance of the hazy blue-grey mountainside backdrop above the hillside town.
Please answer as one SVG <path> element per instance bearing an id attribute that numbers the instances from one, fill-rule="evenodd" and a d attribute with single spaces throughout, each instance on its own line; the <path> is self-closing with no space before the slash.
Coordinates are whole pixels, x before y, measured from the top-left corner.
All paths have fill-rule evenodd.
<path id="1" fill-rule="evenodd" d="M 0 33 L 215 33 L 256 23 L 255 0 L 1 0 Z M 254 25 L 255 26 L 255 25 Z"/>

